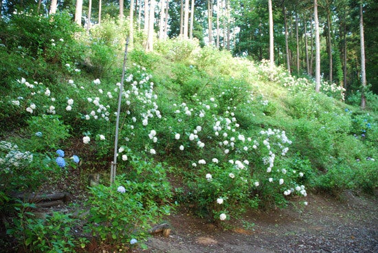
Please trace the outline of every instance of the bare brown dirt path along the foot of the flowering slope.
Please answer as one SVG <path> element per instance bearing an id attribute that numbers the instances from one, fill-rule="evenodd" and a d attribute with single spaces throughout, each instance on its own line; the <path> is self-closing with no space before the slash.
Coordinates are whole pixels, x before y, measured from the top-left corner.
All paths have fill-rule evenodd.
<path id="1" fill-rule="evenodd" d="M 310 195 L 285 210 L 245 214 L 223 231 L 181 210 L 169 217 L 168 238 L 154 236 L 148 253 L 378 252 L 378 201 L 347 192 L 342 200 Z M 252 224 L 255 224 L 252 227 Z"/>

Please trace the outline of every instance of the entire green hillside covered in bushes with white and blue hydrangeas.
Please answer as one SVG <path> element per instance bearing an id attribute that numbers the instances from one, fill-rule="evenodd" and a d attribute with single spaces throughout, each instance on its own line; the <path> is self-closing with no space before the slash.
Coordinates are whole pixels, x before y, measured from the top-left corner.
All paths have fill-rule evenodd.
<path id="1" fill-rule="evenodd" d="M 359 94 L 346 100 L 335 84 L 315 93 L 311 78 L 266 61 L 170 39 L 154 52 L 130 45 L 117 118 L 125 38 L 116 25 L 87 34 L 65 14 L 26 15 L 4 29 L 1 242 L 12 250 L 143 248 L 148 229 L 183 208 L 232 230 L 251 210 L 306 208 L 309 194 L 375 199 L 371 93 L 362 111 Z M 34 192 L 71 201 L 41 219 Z"/>

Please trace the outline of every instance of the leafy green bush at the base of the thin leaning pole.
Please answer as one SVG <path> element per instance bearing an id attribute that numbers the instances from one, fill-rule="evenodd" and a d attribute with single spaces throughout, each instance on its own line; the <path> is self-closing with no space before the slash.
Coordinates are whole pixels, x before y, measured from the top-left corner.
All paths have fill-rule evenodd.
<path id="1" fill-rule="evenodd" d="M 144 240 L 148 228 L 169 214 L 170 186 L 161 164 L 131 161 L 135 180 L 120 175 L 112 186 L 91 188 L 86 230 L 100 241 L 124 247 L 131 239 Z"/>

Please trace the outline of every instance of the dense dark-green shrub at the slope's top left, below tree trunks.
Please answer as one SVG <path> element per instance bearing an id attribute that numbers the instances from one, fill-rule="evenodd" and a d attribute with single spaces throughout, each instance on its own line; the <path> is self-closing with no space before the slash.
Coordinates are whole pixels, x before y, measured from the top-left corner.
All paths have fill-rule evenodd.
<path id="1" fill-rule="evenodd" d="M 80 59 L 82 47 L 74 39 L 79 30 L 65 12 L 52 19 L 23 13 L 12 16 L 0 38 L 8 50 L 18 49 L 21 54 L 63 66 Z"/>

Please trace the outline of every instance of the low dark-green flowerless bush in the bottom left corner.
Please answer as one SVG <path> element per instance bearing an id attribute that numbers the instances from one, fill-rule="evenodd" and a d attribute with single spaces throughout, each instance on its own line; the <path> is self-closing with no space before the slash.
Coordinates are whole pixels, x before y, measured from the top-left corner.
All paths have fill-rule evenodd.
<path id="1" fill-rule="evenodd" d="M 27 252 L 76 252 L 74 225 L 68 214 L 52 212 L 45 219 L 35 217 L 34 204 L 20 202 L 15 209 L 12 228 L 7 233 L 16 238 L 19 248 Z"/>

